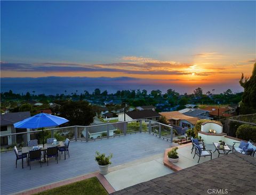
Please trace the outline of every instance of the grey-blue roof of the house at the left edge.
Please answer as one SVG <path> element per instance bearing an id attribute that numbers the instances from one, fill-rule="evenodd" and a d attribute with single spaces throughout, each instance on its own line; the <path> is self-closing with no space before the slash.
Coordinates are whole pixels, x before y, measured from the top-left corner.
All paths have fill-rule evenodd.
<path id="1" fill-rule="evenodd" d="M 1 115 L 1 126 L 12 125 L 26 118 L 29 118 L 30 112 L 6 113 Z"/>

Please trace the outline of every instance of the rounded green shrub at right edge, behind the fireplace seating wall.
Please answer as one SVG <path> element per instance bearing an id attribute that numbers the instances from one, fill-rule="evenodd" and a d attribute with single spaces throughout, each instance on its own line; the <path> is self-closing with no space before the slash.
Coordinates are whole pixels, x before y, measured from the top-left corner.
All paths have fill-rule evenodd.
<path id="1" fill-rule="evenodd" d="M 256 126 L 242 124 L 236 130 L 236 137 L 242 140 L 252 140 L 256 142 Z"/>

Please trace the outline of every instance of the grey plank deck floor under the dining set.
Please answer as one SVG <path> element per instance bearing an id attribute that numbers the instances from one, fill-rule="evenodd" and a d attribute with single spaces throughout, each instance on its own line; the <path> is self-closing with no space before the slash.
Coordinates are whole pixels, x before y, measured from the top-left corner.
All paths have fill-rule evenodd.
<path id="1" fill-rule="evenodd" d="M 13 151 L 1 153 L 1 194 L 16 193 L 98 171 L 98 165 L 94 160 L 97 150 L 106 154 L 113 153 L 111 166 L 114 167 L 150 156 L 159 154 L 163 156 L 164 150 L 171 146 L 170 142 L 147 133 L 136 133 L 90 142 L 72 141 L 69 145 L 70 158 L 64 160 L 64 155 L 62 155 L 59 164 L 54 158 L 51 158 L 49 166 L 47 163 L 42 163 L 42 168 L 39 162 L 32 162 L 31 170 L 29 170 L 29 166 L 26 166 L 26 163 L 22 169 L 21 160 L 18 160 L 18 167 L 15 168 L 16 157 Z M 153 162 L 153 164 L 149 163 L 148 166 L 157 165 L 157 162 Z M 150 172 L 148 169 L 144 174 L 150 174 Z M 126 172 L 123 177 L 128 174 L 129 172 Z"/>

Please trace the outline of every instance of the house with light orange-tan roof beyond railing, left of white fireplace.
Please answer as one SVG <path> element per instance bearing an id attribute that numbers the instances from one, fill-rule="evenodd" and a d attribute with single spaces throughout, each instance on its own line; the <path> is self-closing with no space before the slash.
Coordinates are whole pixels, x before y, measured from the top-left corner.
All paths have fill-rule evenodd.
<path id="1" fill-rule="evenodd" d="M 187 116 L 179 111 L 162 112 L 159 114 L 165 116 L 166 120 L 170 122 L 170 125 L 180 126 L 182 128 L 194 128 L 196 122 L 199 120 L 198 117 Z"/>

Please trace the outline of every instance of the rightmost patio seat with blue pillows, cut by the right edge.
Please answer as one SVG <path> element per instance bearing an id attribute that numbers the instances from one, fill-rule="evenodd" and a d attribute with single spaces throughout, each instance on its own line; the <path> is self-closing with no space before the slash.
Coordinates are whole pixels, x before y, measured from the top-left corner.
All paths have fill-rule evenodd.
<path id="1" fill-rule="evenodd" d="M 248 142 L 241 141 L 233 143 L 234 144 L 232 147 L 232 152 L 235 150 L 237 152 L 241 152 L 242 154 L 251 155 L 252 157 L 254 157 L 256 151 L 256 144 L 252 140 L 249 140 Z M 235 147 L 236 143 L 239 143 L 240 145 L 238 147 Z"/>

